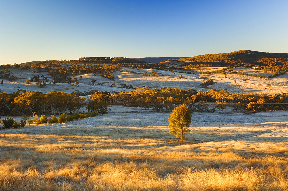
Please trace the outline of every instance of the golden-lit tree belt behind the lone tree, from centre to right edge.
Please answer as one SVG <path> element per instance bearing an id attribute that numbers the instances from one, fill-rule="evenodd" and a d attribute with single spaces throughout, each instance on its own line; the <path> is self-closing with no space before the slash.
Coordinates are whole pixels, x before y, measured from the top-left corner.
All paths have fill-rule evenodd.
<path id="1" fill-rule="evenodd" d="M 163 109 L 172 111 L 176 106 L 187 104 L 192 111 L 215 112 L 215 108 L 211 108 L 208 103 L 216 103 L 216 109 L 219 110 L 223 110 L 221 108 L 228 105 L 234 107 L 236 111 L 245 109 L 251 111 L 288 109 L 287 93 L 275 95 L 231 94 L 226 89 L 196 92 L 193 89 L 179 90 L 170 87 L 161 88 L 160 90 L 137 87 L 132 92 L 109 93 L 98 91 L 92 94 L 92 97 L 97 102 L 121 105 L 130 103 L 144 109 L 153 107 L 156 111 Z M 253 107 L 250 107 L 251 104 L 253 104 Z"/>

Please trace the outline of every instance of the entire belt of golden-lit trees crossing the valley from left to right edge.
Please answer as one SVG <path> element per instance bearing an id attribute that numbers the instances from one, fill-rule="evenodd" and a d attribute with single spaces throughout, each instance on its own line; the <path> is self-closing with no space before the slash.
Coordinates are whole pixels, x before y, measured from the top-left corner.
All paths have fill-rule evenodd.
<path id="1" fill-rule="evenodd" d="M 96 91 L 90 99 L 85 99 L 79 97 L 77 93 L 41 93 L 18 90 L 12 94 L 0 93 L 0 113 L 1 115 L 31 115 L 33 113 L 59 115 L 60 113 L 84 113 L 86 110 L 107 113 L 109 111 L 108 104 L 125 105 L 128 103 L 144 109 L 153 107 L 156 111 L 163 109 L 172 111 L 176 106 L 187 104 L 193 111 L 214 112 L 215 109 L 213 111 L 213 108 L 209 108 L 208 102 L 230 105 L 235 107 L 235 110 L 287 110 L 288 94 L 231 94 L 226 89 L 196 92 L 193 89 L 179 90 L 170 87 L 161 89 L 137 87 L 132 92 Z"/>

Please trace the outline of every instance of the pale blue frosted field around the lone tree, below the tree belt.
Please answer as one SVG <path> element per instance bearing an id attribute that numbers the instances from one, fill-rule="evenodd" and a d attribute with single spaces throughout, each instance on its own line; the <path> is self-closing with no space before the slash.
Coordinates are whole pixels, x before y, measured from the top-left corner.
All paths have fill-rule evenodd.
<path id="1" fill-rule="evenodd" d="M 153 132 L 165 132 L 169 135 L 169 113 L 154 112 L 133 107 L 113 106 L 111 113 L 79 119 L 65 124 L 29 126 L 20 129 L 0 130 L 4 134 L 80 134 L 94 135 L 99 131 L 125 131 L 130 136 L 151 136 Z M 191 132 L 188 139 L 201 141 L 228 141 L 243 139 L 261 139 L 288 141 L 288 112 L 264 112 L 253 115 L 242 113 L 192 113 Z M 3 117 L 2 117 L 3 118 Z M 16 117 L 20 120 L 20 117 Z M 37 131 L 35 132 L 35 129 Z M 139 132 L 141 131 L 141 133 Z M 144 131 L 144 132 L 142 132 Z M 109 133 L 110 132 L 110 133 Z M 144 135 L 143 135 L 144 133 Z"/>

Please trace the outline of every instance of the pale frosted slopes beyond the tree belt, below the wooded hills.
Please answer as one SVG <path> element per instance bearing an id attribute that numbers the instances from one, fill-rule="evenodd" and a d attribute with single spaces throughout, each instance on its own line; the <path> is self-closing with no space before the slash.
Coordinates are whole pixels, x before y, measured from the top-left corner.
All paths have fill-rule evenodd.
<path id="1" fill-rule="evenodd" d="M 223 67 L 213 67 L 213 68 L 201 68 L 201 72 L 203 71 L 211 71 L 218 70 Z M 244 72 L 255 74 L 256 70 L 246 69 L 246 68 L 236 68 L 234 71 L 238 71 L 243 69 Z M 24 89 L 27 91 L 40 91 L 40 92 L 66 92 L 71 93 L 74 90 L 79 90 L 79 92 L 89 91 L 89 90 L 99 90 L 99 91 L 127 91 L 130 92 L 134 89 L 124 89 L 121 88 L 122 84 L 133 85 L 133 88 L 136 87 L 150 87 L 150 88 L 162 88 L 162 87 L 171 87 L 171 88 L 179 88 L 183 90 L 188 90 L 192 88 L 196 91 L 207 91 L 211 88 L 216 90 L 227 89 L 231 93 L 253 93 L 253 94 L 276 94 L 276 93 L 288 93 L 288 85 L 286 87 L 283 86 L 283 82 L 285 78 L 288 78 L 288 74 L 283 74 L 281 76 L 277 76 L 271 79 L 268 78 L 257 78 L 251 76 L 243 76 L 236 74 L 199 74 L 200 70 L 194 70 L 196 74 L 183 74 L 163 70 L 154 70 L 158 71 L 160 76 L 145 76 L 141 74 L 135 74 L 130 72 L 114 72 L 115 81 L 108 80 L 99 75 L 93 74 L 84 74 L 81 75 L 82 79 L 79 79 L 79 76 L 70 76 L 71 78 L 77 78 L 79 82 L 79 86 L 72 86 L 69 83 L 57 83 L 54 84 L 46 84 L 44 88 L 40 88 L 35 85 L 35 82 L 27 83 L 26 80 L 30 79 L 34 76 L 32 72 L 26 70 L 20 70 L 17 68 L 9 69 L 11 72 L 14 72 L 14 76 L 17 76 L 19 79 L 16 82 L 8 82 L 8 80 L 3 80 L 4 84 L 0 84 L 0 91 L 3 92 L 16 92 L 19 89 Z M 151 74 L 151 70 L 140 69 L 137 71 L 136 69 L 131 68 L 123 68 L 123 70 L 127 71 L 135 71 L 135 72 L 147 72 L 147 74 Z M 263 70 L 258 71 L 259 74 L 265 74 L 266 76 L 272 73 L 263 73 Z M 163 74 L 163 76 L 162 76 Z M 48 77 L 52 82 L 53 78 L 47 75 L 46 72 L 37 72 L 35 75 Z M 183 78 L 179 78 L 180 75 L 183 75 Z M 103 86 L 99 85 L 88 85 L 91 79 L 97 80 L 95 84 L 102 83 Z M 186 79 L 185 79 L 186 78 Z M 206 82 L 208 78 L 212 78 L 215 84 L 208 86 L 208 88 L 200 88 L 200 83 Z M 229 79 L 230 78 L 230 79 Z M 111 85 L 115 83 L 115 87 L 111 87 Z M 269 83 L 271 85 L 270 88 L 266 87 L 266 84 Z"/>

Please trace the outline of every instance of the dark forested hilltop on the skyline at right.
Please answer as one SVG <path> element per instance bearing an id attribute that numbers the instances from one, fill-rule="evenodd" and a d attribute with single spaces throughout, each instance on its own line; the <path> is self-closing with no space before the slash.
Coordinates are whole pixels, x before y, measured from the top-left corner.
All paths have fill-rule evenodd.
<path id="1" fill-rule="evenodd" d="M 239 50 L 230 53 L 204 54 L 190 58 L 181 58 L 177 59 L 177 61 L 179 62 L 190 61 L 193 62 L 193 64 L 211 64 L 211 65 L 231 65 L 231 64 L 279 65 L 288 61 L 288 54 Z"/>

